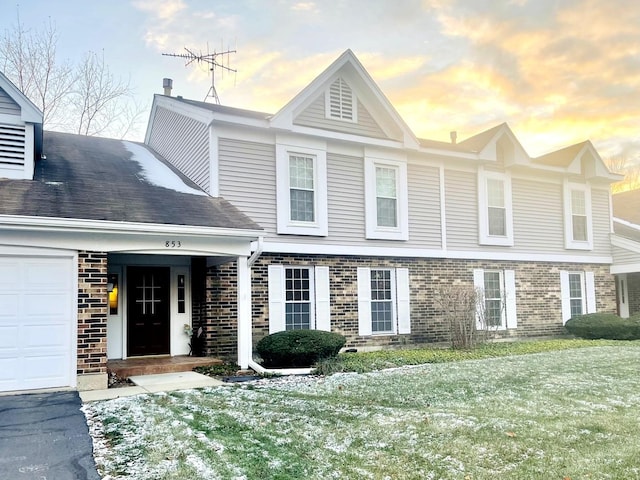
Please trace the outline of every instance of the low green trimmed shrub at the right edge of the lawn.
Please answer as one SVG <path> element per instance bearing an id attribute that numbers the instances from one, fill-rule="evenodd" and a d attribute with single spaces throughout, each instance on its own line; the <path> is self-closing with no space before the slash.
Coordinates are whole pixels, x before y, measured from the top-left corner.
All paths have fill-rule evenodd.
<path id="1" fill-rule="evenodd" d="M 640 339 L 640 317 L 620 318 L 613 313 L 589 313 L 570 318 L 565 327 L 569 333 L 590 340 Z"/>

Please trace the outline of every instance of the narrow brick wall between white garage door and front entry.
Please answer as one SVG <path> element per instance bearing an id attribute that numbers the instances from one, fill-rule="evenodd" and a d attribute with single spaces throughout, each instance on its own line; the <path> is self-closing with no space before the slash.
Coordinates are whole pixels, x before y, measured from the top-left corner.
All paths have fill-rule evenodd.
<path id="1" fill-rule="evenodd" d="M 107 372 L 107 254 L 78 252 L 78 375 Z"/>

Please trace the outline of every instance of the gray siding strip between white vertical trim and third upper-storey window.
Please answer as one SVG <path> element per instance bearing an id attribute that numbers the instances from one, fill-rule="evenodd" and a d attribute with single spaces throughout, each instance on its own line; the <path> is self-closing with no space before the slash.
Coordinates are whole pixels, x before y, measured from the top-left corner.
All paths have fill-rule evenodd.
<path id="1" fill-rule="evenodd" d="M 478 248 L 478 182 L 475 172 L 445 170 L 447 247 Z"/>

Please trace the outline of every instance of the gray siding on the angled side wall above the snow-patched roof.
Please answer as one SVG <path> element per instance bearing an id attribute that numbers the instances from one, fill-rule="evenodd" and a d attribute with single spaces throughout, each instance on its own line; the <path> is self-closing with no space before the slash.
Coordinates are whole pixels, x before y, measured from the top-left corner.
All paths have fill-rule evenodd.
<path id="1" fill-rule="evenodd" d="M 149 146 L 209 192 L 209 130 L 202 123 L 159 107 Z"/>

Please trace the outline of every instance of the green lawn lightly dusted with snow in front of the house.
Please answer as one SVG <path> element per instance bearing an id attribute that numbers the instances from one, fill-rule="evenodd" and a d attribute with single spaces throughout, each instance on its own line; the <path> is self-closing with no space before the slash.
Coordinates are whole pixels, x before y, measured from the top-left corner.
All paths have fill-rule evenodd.
<path id="1" fill-rule="evenodd" d="M 85 408 L 114 479 L 640 479 L 638 343 Z"/>

